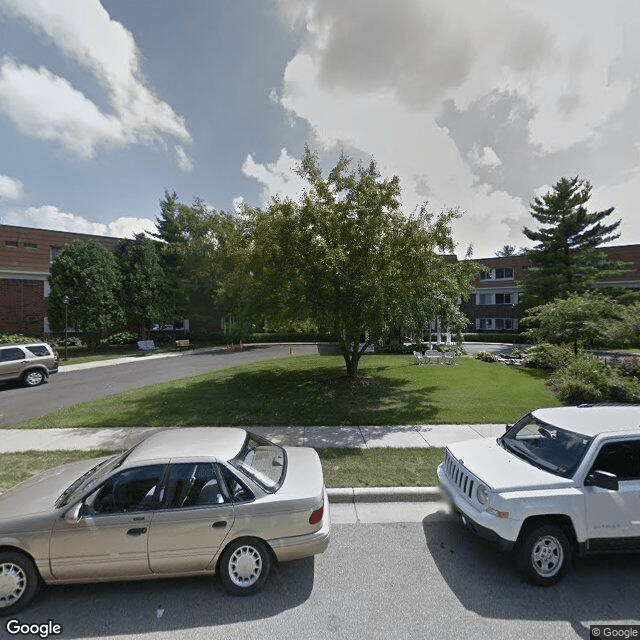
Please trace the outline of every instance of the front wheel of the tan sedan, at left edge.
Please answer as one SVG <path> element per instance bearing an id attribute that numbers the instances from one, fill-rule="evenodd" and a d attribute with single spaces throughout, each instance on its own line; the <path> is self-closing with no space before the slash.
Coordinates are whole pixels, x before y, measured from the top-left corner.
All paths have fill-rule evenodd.
<path id="1" fill-rule="evenodd" d="M 19 551 L 0 551 L 0 617 L 26 607 L 40 586 L 33 561 Z"/>

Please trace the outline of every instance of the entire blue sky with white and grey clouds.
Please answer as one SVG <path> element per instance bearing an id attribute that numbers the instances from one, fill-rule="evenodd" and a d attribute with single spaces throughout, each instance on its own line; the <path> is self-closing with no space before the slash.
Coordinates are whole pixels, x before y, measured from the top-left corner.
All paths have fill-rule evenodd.
<path id="1" fill-rule="evenodd" d="M 456 252 L 529 246 L 561 177 L 640 243 L 637 0 L 0 0 L 0 223 L 154 231 L 166 191 L 297 198 L 374 158 Z"/>

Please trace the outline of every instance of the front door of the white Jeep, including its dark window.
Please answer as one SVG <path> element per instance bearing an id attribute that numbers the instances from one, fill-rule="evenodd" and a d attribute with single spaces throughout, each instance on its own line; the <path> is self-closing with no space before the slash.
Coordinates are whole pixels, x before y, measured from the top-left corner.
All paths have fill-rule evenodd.
<path id="1" fill-rule="evenodd" d="M 585 486 L 591 550 L 640 549 L 640 439 L 602 445 L 591 466 L 618 478 L 618 490 Z M 587 477 L 589 474 L 587 474 Z"/>

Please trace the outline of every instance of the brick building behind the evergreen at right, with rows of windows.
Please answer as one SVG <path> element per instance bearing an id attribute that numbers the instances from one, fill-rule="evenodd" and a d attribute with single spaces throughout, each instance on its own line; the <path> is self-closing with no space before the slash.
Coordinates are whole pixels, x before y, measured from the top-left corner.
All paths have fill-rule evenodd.
<path id="1" fill-rule="evenodd" d="M 598 282 L 597 286 L 618 285 L 640 290 L 640 245 L 603 247 L 611 261 L 631 263 L 629 273 Z M 469 318 L 468 331 L 518 331 L 519 321 L 526 311 L 522 304 L 518 282 L 527 277 L 531 261 L 526 256 L 482 258 L 478 264 L 490 269 L 478 274 L 471 285 L 471 297 L 461 306 Z"/>

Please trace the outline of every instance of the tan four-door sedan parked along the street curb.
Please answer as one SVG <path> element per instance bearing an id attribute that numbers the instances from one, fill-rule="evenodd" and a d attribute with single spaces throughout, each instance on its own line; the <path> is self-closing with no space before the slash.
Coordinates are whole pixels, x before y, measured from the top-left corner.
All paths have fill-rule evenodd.
<path id="1" fill-rule="evenodd" d="M 159 431 L 113 457 L 34 476 L 0 495 L 0 616 L 47 584 L 218 573 L 230 593 L 274 560 L 322 553 L 317 453 L 243 429 Z"/>

